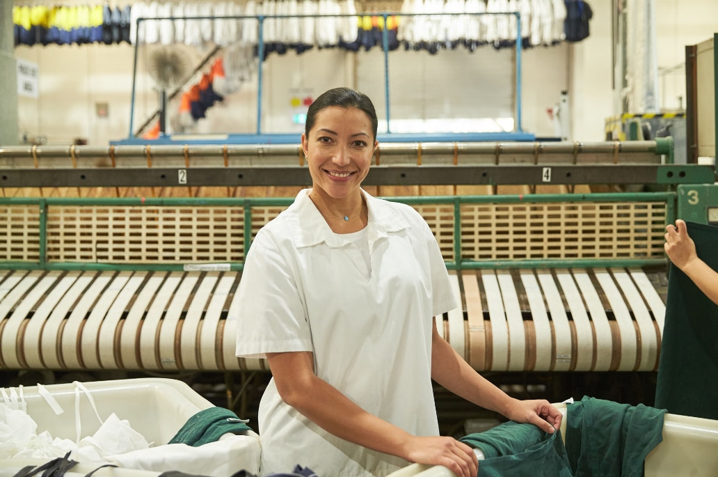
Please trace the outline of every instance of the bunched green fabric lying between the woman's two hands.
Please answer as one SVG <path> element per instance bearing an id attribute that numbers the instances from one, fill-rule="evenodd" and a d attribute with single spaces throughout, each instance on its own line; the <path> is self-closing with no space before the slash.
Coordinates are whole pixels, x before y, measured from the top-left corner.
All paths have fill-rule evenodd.
<path id="1" fill-rule="evenodd" d="M 571 477 L 561 432 L 548 434 L 532 424 L 504 422 L 460 439 L 480 448 L 481 477 Z"/>

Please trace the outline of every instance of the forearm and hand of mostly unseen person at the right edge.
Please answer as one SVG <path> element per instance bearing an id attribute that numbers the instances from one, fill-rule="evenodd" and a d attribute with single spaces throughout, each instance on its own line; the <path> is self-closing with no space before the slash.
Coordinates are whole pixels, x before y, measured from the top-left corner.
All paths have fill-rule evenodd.
<path id="1" fill-rule="evenodd" d="M 718 273 L 696 254 L 696 244 L 688 235 L 686 223 L 681 219 L 676 225 L 666 226 L 666 249 L 673 265 L 679 267 L 712 302 L 718 305 Z"/>

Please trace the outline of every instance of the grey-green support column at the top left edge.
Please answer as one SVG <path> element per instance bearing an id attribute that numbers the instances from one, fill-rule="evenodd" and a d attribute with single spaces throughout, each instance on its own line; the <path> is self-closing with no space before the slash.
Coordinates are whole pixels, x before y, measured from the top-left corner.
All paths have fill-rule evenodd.
<path id="1" fill-rule="evenodd" d="M 11 1 L 0 1 L 0 146 L 14 146 L 20 142 L 12 4 Z"/>

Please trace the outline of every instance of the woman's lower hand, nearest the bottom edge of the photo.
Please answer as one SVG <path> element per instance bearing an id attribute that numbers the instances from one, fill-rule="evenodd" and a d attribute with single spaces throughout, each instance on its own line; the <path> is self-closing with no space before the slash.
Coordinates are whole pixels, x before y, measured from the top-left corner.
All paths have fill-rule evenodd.
<path id="1" fill-rule="evenodd" d="M 410 462 L 444 466 L 458 477 L 477 476 L 479 461 L 476 454 L 468 445 L 452 437 L 412 436 L 407 447 Z"/>

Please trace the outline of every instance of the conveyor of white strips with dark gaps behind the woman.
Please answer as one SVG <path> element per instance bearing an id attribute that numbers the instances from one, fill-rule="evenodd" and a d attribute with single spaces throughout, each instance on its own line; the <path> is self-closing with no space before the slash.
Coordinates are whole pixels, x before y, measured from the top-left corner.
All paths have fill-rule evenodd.
<path id="1" fill-rule="evenodd" d="M 445 338 L 480 371 L 652 371 L 665 270 L 450 272 Z M 234 356 L 239 272 L 0 271 L 4 369 L 266 369 Z"/>

